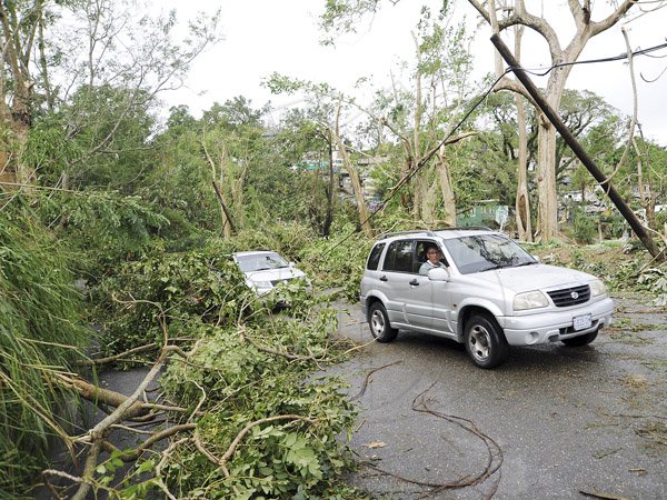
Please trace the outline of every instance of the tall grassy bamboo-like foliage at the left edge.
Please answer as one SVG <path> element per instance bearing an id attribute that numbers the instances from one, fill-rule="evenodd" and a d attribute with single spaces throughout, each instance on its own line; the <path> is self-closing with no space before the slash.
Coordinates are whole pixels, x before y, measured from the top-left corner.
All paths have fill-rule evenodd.
<path id="1" fill-rule="evenodd" d="M 27 213 L 0 212 L 0 497 L 17 498 L 63 431 L 46 373 L 69 371 L 90 336 L 59 246 Z"/>

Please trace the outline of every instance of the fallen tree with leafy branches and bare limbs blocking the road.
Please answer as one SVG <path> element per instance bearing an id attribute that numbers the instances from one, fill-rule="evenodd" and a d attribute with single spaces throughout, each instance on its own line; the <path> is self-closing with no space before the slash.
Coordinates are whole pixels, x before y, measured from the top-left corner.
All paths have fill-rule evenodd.
<path id="1" fill-rule="evenodd" d="M 290 313 L 275 314 L 233 286 L 242 280 L 233 269 L 213 261 L 206 251 L 160 256 L 128 263 L 100 287 L 109 320 L 143 330 L 132 330 L 131 342 L 106 337 L 107 344 L 129 349 L 80 364 L 136 361 L 156 349 L 157 357 L 129 397 L 72 373 L 50 378 L 109 409 L 90 430 L 68 437 L 72 452 L 86 457 L 77 472 L 43 471 L 53 496 L 83 499 L 106 491 L 127 498 L 159 490 L 167 498 L 275 498 L 347 488 L 337 483 L 350 464 L 337 437 L 349 432 L 352 407 L 340 381 L 310 378 L 341 356 L 330 338 L 335 312 L 288 287 Z M 231 287 L 212 287 L 215 280 Z M 218 293 L 223 300 L 213 297 Z M 148 342 L 137 346 L 140 338 Z M 161 392 L 149 401 L 146 389 L 158 376 Z M 112 444 L 118 432 L 140 440 L 118 449 Z M 127 462 L 136 466 L 128 471 Z"/>

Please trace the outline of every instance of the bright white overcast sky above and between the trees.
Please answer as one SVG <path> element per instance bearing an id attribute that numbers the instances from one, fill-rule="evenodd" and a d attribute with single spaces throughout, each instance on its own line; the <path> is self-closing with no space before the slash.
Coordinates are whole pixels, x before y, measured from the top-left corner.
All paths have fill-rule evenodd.
<path id="1" fill-rule="evenodd" d="M 434 0 L 427 3 L 436 6 Z M 192 12 L 221 9 L 223 40 L 209 48 L 192 67 L 186 87 L 163 96 L 169 106 L 188 104 L 193 114 L 210 108 L 213 102 L 223 103 L 236 96 L 243 96 L 259 108 L 267 101 L 289 104 L 289 100 L 271 96 L 261 87 L 262 79 L 272 72 L 292 78 L 328 82 L 334 87 L 351 91 L 359 77 L 372 77 L 378 88 L 388 87 L 389 71 L 396 70 L 400 60 L 410 60 L 414 42 L 410 30 L 419 19 L 422 1 L 402 0 L 392 7 L 385 0 L 384 7 L 374 19 L 358 24 L 358 33 L 345 36 L 335 48 L 319 44 L 318 13 L 325 0 L 189 0 L 187 10 L 182 1 L 162 1 L 162 7 L 173 4 L 179 17 Z M 545 9 L 548 20 L 564 18 L 555 24 L 561 33 L 561 42 L 568 40 L 565 0 L 527 0 L 529 11 L 540 13 Z M 596 14 L 608 9 L 608 2 L 594 2 Z M 598 10 L 600 9 L 600 10 Z M 476 12 L 468 2 L 458 0 L 457 12 L 475 20 Z M 606 13 L 605 11 L 604 13 Z M 566 12 L 567 13 L 567 12 Z M 639 11 L 637 10 L 637 13 Z M 554 21 L 555 22 L 555 21 Z M 579 60 L 617 56 L 626 51 L 621 24 L 593 38 Z M 667 9 L 643 16 L 627 24 L 634 49 L 648 48 L 667 41 Z M 547 67 L 549 57 L 546 44 L 525 34 L 522 66 Z M 490 31 L 482 26 L 476 37 L 474 53 L 479 73 L 492 68 L 494 47 Z M 514 49 L 514 44 L 508 43 Z M 663 59 L 655 56 L 663 56 Z M 667 49 L 654 52 L 654 57 L 635 58 L 638 86 L 638 120 L 646 137 L 667 146 Z M 653 83 L 641 80 L 639 73 Z M 540 84 L 539 80 L 536 83 Z M 633 111 L 631 82 L 626 62 L 606 62 L 575 67 L 568 88 L 593 91 L 626 114 Z"/>

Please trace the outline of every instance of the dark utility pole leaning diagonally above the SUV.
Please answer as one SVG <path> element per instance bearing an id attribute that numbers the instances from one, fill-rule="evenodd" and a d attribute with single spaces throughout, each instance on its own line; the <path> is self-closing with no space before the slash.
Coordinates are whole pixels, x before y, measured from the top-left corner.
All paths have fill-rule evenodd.
<path id="1" fill-rule="evenodd" d="M 547 100 L 540 93 L 540 91 L 535 87 L 532 80 L 526 74 L 524 68 L 519 64 L 519 62 L 511 54 L 507 46 L 500 40 L 498 34 L 494 34 L 491 37 L 491 42 L 496 46 L 502 59 L 510 66 L 514 73 L 517 76 L 519 81 L 524 84 L 530 97 L 532 97 L 535 103 L 539 107 L 539 109 L 545 113 L 547 119 L 554 124 L 558 133 L 563 137 L 567 146 L 570 147 L 573 152 L 581 160 L 584 167 L 590 172 L 590 174 L 598 181 L 603 190 L 607 193 L 611 202 L 616 206 L 620 214 L 625 218 L 625 220 L 630 224 L 633 231 L 637 234 L 644 247 L 649 251 L 649 253 L 656 259 L 660 259 L 660 251 L 656 246 L 656 242 L 651 239 L 651 237 L 646 232 L 646 228 L 641 226 L 639 219 L 635 216 L 635 213 L 630 210 L 630 208 L 626 204 L 626 202 L 620 198 L 618 191 L 614 189 L 611 186 L 611 179 L 609 179 L 605 173 L 595 164 L 595 161 L 588 156 L 588 153 L 584 150 L 581 144 L 577 141 L 577 139 L 571 134 L 569 129 L 565 126 L 558 113 L 551 109 Z M 556 70 L 558 71 L 558 70 Z"/>

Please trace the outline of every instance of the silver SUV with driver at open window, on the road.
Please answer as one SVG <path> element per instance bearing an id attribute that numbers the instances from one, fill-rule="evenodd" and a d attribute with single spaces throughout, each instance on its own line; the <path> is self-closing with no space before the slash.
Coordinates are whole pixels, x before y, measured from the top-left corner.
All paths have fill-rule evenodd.
<path id="1" fill-rule="evenodd" d="M 486 228 L 385 234 L 366 262 L 360 300 L 379 342 L 398 329 L 446 337 L 480 368 L 502 363 L 509 346 L 590 343 L 614 310 L 599 279 L 539 263 Z"/>

